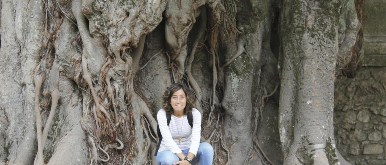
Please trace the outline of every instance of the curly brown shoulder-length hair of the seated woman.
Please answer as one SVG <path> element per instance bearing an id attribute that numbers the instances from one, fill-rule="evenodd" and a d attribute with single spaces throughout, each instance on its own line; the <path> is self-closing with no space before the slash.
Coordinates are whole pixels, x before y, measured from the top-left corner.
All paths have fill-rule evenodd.
<path id="1" fill-rule="evenodd" d="M 170 105 L 170 98 L 173 96 L 173 93 L 182 89 L 186 95 L 186 106 L 184 109 L 184 115 L 191 112 L 195 108 L 196 104 L 194 103 L 195 97 L 193 92 L 188 89 L 184 84 L 174 83 L 170 87 L 166 88 L 164 95 L 162 96 L 162 108 L 167 114 L 173 114 L 173 107 Z"/>

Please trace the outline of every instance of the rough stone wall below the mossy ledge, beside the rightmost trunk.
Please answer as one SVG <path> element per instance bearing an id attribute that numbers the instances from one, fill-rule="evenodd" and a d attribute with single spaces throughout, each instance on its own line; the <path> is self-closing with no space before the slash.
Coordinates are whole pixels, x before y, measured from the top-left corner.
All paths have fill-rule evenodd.
<path id="1" fill-rule="evenodd" d="M 335 83 L 337 148 L 356 165 L 386 164 L 386 67 L 362 67 Z"/>

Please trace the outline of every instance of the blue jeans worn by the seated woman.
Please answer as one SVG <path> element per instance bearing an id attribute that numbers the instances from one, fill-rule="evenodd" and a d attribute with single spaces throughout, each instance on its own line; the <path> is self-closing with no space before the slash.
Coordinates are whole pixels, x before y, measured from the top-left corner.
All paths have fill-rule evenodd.
<path id="1" fill-rule="evenodd" d="M 188 155 L 189 148 L 182 150 L 185 156 Z M 200 161 L 200 165 L 212 165 L 213 163 L 213 147 L 209 143 L 200 143 L 197 155 L 193 158 L 191 164 L 195 165 Z M 180 161 L 177 155 L 169 150 L 163 150 L 157 153 L 156 161 L 158 165 L 173 165 Z"/>

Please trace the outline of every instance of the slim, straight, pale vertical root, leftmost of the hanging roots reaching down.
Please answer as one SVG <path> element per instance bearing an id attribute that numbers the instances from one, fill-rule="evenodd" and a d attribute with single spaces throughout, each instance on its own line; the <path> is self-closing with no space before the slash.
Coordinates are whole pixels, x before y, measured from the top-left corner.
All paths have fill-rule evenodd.
<path id="1" fill-rule="evenodd" d="M 38 73 L 40 66 L 36 68 L 34 83 L 35 83 L 35 115 L 36 115 L 36 136 L 37 136 L 37 158 L 35 159 L 35 165 L 43 165 L 43 144 L 42 144 L 42 116 L 40 114 L 39 107 L 39 95 L 40 88 L 43 84 L 43 78 Z"/>

